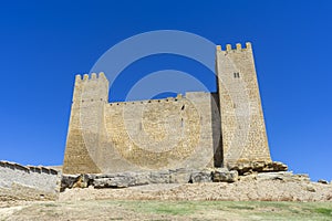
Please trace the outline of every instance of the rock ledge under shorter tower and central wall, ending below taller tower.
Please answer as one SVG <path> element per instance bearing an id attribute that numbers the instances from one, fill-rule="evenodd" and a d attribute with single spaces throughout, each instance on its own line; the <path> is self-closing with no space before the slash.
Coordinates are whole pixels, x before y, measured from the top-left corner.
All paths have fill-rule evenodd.
<path id="1" fill-rule="evenodd" d="M 236 170 L 227 168 L 194 170 L 179 168 L 175 170 L 117 172 L 107 175 L 63 175 L 61 191 L 65 188 L 126 188 L 154 183 L 197 183 L 197 182 L 235 182 Z"/>

